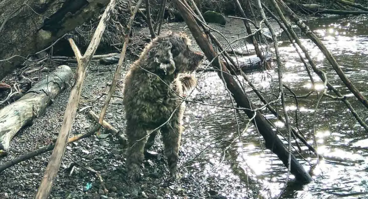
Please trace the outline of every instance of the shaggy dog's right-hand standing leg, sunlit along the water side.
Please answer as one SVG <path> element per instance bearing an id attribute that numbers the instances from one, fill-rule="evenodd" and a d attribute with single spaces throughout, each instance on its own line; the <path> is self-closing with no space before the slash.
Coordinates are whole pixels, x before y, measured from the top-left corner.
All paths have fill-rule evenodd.
<path id="1" fill-rule="evenodd" d="M 180 112 L 180 110 L 177 112 Z M 171 179 L 177 178 L 180 139 L 181 132 L 183 131 L 183 126 L 181 125 L 182 118 L 183 114 L 176 114 L 169 123 L 161 128 L 162 141 L 165 146 Z"/>

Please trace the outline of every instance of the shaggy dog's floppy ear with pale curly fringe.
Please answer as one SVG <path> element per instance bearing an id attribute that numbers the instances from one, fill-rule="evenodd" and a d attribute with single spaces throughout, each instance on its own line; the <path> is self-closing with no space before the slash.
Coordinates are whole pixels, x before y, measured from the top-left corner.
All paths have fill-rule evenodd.
<path id="1" fill-rule="evenodd" d="M 162 41 L 157 46 L 154 61 L 159 64 L 159 69 L 163 70 L 165 74 L 173 74 L 176 70 L 175 62 L 171 49 L 173 45 L 169 40 Z"/>

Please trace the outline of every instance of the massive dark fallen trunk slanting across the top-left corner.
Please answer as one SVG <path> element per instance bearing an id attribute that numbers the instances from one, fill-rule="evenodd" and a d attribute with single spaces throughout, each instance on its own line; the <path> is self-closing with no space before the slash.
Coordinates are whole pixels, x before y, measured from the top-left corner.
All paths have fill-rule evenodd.
<path id="1" fill-rule="evenodd" d="M 110 0 L 1 0 L 0 80 L 56 39 L 99 14 Z"/>

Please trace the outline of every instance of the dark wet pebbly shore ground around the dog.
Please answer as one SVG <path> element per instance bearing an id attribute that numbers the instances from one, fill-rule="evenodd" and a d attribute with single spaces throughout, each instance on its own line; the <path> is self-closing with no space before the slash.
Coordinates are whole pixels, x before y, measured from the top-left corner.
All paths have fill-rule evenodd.
<path id="1" fill-rule="evenodd" d="M 243 22 L 240 20 L 228 19 L 226 27 L 211 24 L 212 27 L 223 31 L 231 31 L 224 33 L 227 39 L 234 40 L 244 32 Z M 184 23 L 165 24 L 163 29 L 170 29 L 173 31 L 186 31 L 191 36 L 188 28 Z M 149 32 L 147 28 L 136 29 L 134 36 L 147 35 Z M 221 38 L 216 34 L 222 43 L 226 43 L 226 39 Z M 192 38 L 192 36 L 191 36 Z M 199 50 L 197 44 L 193 40 L 193 48 Z M 239 42 L 236 45 L 243 45 L 244 42 Z M 235 45 L 235 46 L 236 46 Z M 116 95 L 122 96 L 123 79 L 127 69 L 134 61 L 132 56 L 128 56 L 124 62 L 124 67 L 121 71 L 121 78 L 117 83 Z M 207 61 L 204 64 L 208 63 Z M 70 64 L 75 71 L 75 65 Z M 100 109 L 106 99 L 109 90 L 109 85 L 112 81 L 112 76 L 116 69 L 116 64 L 100 65 L 93 61 L 89 66 L 87 76 L 85 79 L 82 97 L 79 102 L 78 110 L 92 105 L 92 108 L 86 109 L 82 112 L 77 112 L 74 125 L 72 127 L 71 135 L 78 135 L 93 128 L 95 122 L 88 116 L 88 111 L 92 109 L 99 114 Z M 207 77 L 216 78 L 216 73 L 200 73 L 198 77 L 198 88 L 201 88 L 205 83 Z M 221 85 L 219 85 L 221 87 Z M 219 88 L 218 91 L 226 95 L 226 91 Z M 216 96 L 211 96 L 206 92 L 201 92 L 200 89 L 193 97 L 206 100 L 212 99 L 216 101 Z M 52 105 L 46 108 L 45 113 L 40 115 L 32 126 L 22 129 L 11 141 L 11 151 L 8 156 L 0 159 L 0 164 L 12 160 L 21 154 L 35 150 L 41 146 L 45 146 L 56 139 L 59 132 L 61 122 L 63 120 L 64 111 L 70 94 L 70 88 L 63 91 L 54 101 Z M 103 96 L 102 96 L 103 95 Z M 206 96 L 207 95 L 207 96 Z M 188 112 L 194 112 L 195 104 L 187 103 L 187 111 L 185 117 L 190 117 Z M 106 121 L 119 130 L 125 129 L 124 107 L 122 99 L 118 97 L 112 98 L 109 109 L 107 111 Z M 188 121 L 188 118 L 184 119 Z M 188 123 L 184 123 L 185 129 L 190 129 Z M 103 132 L 104 133 L 104 132 Z M 186 150 L 195 140 L 189 140 L 183 133 L 182 147 L 180 151 L 180 165 L 184 164 L 189 159 L 196 156 L 192 151 Z M 160 140 L 159 137 L 156 138 Z M 153 151 L 162 154 L 162 144 L 160 141 L 156 142 Z M 43 177 L 47 162 L 51 152 L 47 152 L 30 160 L 24 161 L 18 165 L 8 168 L 0 174 L 0 198 L 32 198 L 36 189 L 39 186 L 40 180 Z M 70 173 L 69 165 L 77 163 L 75 169 Z M 81 166 L 82 165 L 82 166 Z M 212 177 L 212 182 L 219 182 L 217 185 L 206 186 L 203 183 L 203 178 L 197 173 L 192 174 L 188 172 L 187 167 L 180 168 L 180 175 L 182 178 L 177 182 L 170 183 L 167 181 L 168 170 L 164 156 L 159 155 L 158 158 L 148 159 L 144 162 L 144 169 L 142 170 L 143 179 L 134 185 L 129 185 L 125 181 L 125 150 L 121 149 L 120 144 L 115 138 L 102 134 L 101 137 L 90 137 L 80 140 L 77 143 L 72 143 L 67 146 L 64 160 L 61 164 L 59 174 L 53 186 L 50 198 L 167 198 L 167 199 L 185 199 L 185 198 L 238 198 L 239 196 L 226 193 L 227 188 L 231 187 L 231 180 L 229 184 L 219 175 Z M 109 193 L 103 193 L 102 186 L 96 176 L 83 167 L 91 167 L 99 171 L 105 182 Z M 92 187 L 85 191 L 86 186 L 92 183 Z M 233 189 L 243 189 L 246 187 L 233 187 Z M 228 190 L 230 191 L 230 190 Z M 243 193 L 244 194 L 244 193 Z M 246 195 L 246 194 L 245 194 Z M 243 195 L 244 196 L 244 195 Z M 243 198 L 243 197 L 242 197 Z"/>

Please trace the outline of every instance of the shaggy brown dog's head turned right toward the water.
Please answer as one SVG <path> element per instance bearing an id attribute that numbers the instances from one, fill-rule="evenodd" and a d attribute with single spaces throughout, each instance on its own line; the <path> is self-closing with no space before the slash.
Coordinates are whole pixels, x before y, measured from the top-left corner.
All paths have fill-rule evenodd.
<path id="1" fill-rule="evenodd" d="M 194 71 L 204 55 L 190 49 L 191 41 L 184 33 L 166 32 L 154 39 L 148 50 L 148 59 L 153 61 L 156 72 L 176 75 Z"/>

